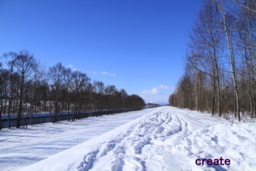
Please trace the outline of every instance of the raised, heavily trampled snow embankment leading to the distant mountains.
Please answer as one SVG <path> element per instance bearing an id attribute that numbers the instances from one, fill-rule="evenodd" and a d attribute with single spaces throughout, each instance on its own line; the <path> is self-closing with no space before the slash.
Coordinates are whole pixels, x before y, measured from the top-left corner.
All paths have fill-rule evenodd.
<path id="1" fill-rule="evenodd" d="M 230 124 L 167 106 L 144 114 L 24 170 L 256 169 L 255 122 Z M 195 164 L 198 158 L 220 157 L 231 164 Z"/>

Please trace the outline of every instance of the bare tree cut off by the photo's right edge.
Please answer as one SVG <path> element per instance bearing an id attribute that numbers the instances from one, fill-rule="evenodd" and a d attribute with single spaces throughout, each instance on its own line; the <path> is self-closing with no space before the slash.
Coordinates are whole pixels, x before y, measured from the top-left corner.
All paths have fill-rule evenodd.
<path id="1" fill-rule="evenodd" d="M 238 29 L 236 43 L 238 47 L 238 51 L 240 52 L 240 56 L 242 61 L 244 61 L 246 65 L 246 73 L 248 79 L 248 95 L 250 100 L 250 116 L 253 118 L 256 116 L 256 95 L 255 95 L 255 11 L 253 12 L 251 9 L 256 8 L 256 3 L 246 0 L 244 3 L 239 3 L 238 1 L 234 1 L 236 4 L 239 4 L 241 8 L 236 11 L 238 15 Z"/>

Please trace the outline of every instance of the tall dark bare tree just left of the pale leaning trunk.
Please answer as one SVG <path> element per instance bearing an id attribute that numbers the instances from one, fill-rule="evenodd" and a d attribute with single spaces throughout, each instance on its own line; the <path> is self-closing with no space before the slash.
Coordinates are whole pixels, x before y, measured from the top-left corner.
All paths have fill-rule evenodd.
<path id="1" fill-rule="evenodd" d="M 190 34 L 191 43 L 189 47 L 196 49 L 192 53 L 190 61 L 196 70 L 207 73 L 212 77 L 212 115 L 214 114 L 215 92 L 217 87 L 219 116 L 221 117 L 221 83 L 220 83 L 220 61 L 221 61 L 221 33 L 219 29 L 220 12 L 214 0 L 204 2 L 199 12 L 193 32 Z M 203 51 L 203 52 L 202 52 Z M 198 59 L 193 59 L 198 58 Z M 195 62 L 196 61 L 196 62 Z"/>

